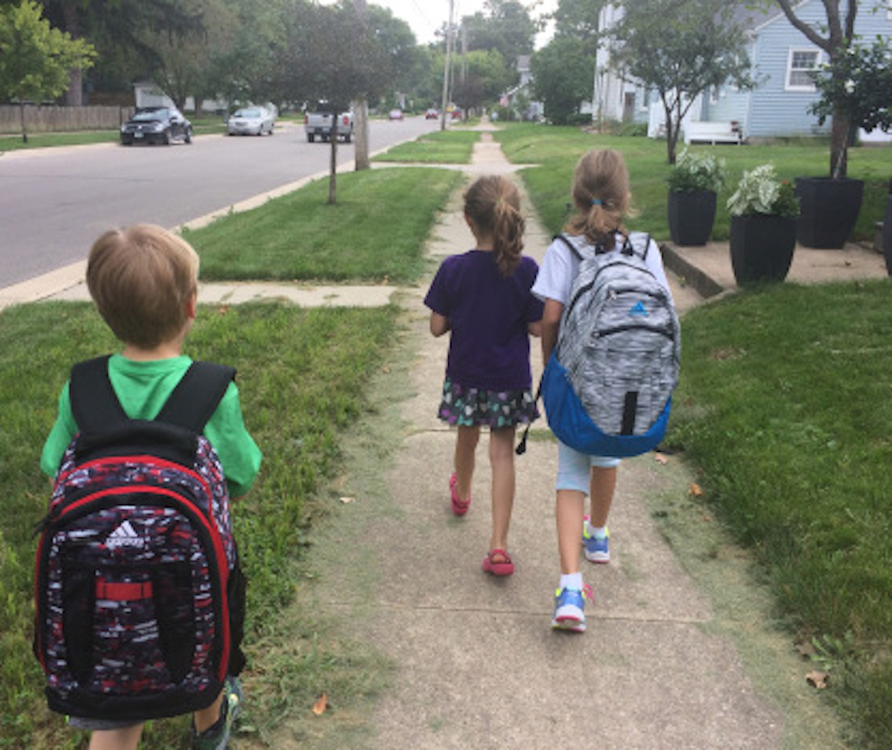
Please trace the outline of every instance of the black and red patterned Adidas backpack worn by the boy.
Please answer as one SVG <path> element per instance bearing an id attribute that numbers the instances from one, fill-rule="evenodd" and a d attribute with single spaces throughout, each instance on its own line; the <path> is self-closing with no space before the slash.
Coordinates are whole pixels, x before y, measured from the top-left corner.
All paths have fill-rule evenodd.
<path id="1" fill-rule="evenodd" d="M 108 357 L 72 368 L 78 433 L 35 564 L 35 653 L 52 710 L 138 721 L 219 695 L 241 639 L 244 579 L 226 480 L 202 431 L 234 376 L 194 362 L 146 421 L 121 408 Z"/>

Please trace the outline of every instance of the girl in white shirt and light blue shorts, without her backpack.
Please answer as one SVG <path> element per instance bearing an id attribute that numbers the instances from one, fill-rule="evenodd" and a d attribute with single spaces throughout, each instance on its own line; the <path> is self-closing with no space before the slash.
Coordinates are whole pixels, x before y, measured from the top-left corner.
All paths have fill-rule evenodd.
<path id="1" fill-rule="evenodd" d="M 582 156 L 574 171 L 572 193 L 576 214 L 565 227 L 570 242 L 584 253 L 596 248 L 609 251 L 624 243 L 628 233 L 623 217 L 628 212 L 629 172 L 623 157 L 615 151 L 591 151 Z M 650 241 L 645 259 L 648 269 L 666 291 L 669 283 L 657 243 Z M 542 314 L 542 357 L 548 362 L 571 286 L 580 265 L 576 253 L 565 243 L 549 245 L 542 259 L 533 293 L 545 301 Z M 585 630 L 584 596 L 580 572 L 580 539 L 587 560 L 610 561 L 607 515 L 613 503 L 620 459 L 588 456 L 558 441 L 557 524 L 561 576 L 558 582 L 551 626 L 557 630 Z M 585 496 L 591 498 L 591 515 L 584 516 Z M 583 591 L 585 594 L 583 595 Z"/>

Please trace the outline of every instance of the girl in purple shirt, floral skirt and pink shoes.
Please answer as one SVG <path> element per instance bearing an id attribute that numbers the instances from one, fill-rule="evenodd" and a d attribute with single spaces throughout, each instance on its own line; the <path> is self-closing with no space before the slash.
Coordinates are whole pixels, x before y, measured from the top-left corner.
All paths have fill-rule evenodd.
<path id="1" fill-rule="evenodd" d="M 508 178 L 476 180 L 465 194 L 465 219 L 475 248 L 443 260 L 425 297 L 431 333 L 450 333 L 438 415 L 458 428 L 449 482 L 455 515 L 470 507 L 480 429 L 490 428 L 492 535 L 483 571 L 510 575 L 515 430 L 539 416 L 529 339 L 540 334 L 542 303 L 530 292 L 538 266 L 522 254 L 520 194 Z"/>

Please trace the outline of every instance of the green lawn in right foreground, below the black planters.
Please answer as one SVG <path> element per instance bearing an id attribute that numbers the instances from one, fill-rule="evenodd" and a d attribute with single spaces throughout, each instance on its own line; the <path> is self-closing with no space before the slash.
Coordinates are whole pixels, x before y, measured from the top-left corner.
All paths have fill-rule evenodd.
<path id="1" fill-rule="evenodd" d="M 688 313 L 669 441 L 756 552 L 860 748 L 892 734 L 892 283 L 780 284 Z"/>

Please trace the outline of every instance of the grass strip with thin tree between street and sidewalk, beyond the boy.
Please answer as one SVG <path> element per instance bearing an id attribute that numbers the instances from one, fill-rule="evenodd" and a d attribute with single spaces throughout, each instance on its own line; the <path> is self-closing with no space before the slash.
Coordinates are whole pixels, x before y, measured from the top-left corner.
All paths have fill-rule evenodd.
<path id="1" fill-rule="evenodd" d="M 184 233 L 202 279 L 415 281 L 434 214 L 461 176 L 444 169 L 375 169 L 320 179 L 258 209 Z"/>

